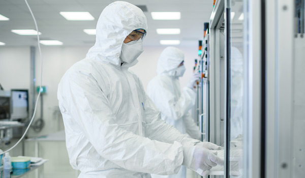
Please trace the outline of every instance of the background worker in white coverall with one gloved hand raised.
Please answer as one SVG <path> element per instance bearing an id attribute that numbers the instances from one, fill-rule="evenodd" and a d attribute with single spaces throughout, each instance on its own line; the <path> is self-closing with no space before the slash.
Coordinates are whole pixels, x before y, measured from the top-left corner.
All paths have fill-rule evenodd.
<path id="1" fill-rule="evenodd" d="M 195 73 L 186 87 L 180 90 L 179 77 L 186 68 L 184 66 L 184 53 L 175 47 L 165 48 L 157 64 L 157 76 L 151 79 L 147 85 L 147 95 L 154 101 L 161 111 L 162 120 L 174 126 L 181 133 L 188 133 L 192 138 L 201 140 L 201 132 L 189 113 L 195 105 L 196 92 L 194 86 L 200 80 L 200 74 Z M 186 177 L 186 167 L 181 166 L 179 172 L 174 175 L 151 175 L 158 177 Z"/>

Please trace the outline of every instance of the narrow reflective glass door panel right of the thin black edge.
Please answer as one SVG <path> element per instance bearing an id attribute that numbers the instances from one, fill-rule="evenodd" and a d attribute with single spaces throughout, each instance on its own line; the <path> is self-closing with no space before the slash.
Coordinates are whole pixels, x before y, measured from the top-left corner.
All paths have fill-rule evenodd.
<path id="1" fill-rule="evenodd" d="M 227 117 L 229 122 L 228 132 L 226 135 L 227 141 L 229 140 L 229 151 L 226 159 L 229 159 L 229 177 L 243 177 L 243 107 L 244 101 L 244 55 L 243 49 L 245 41 L 243 38 L 244 33 L 244 12 L 242 0 L 230 0 L 226 4 L 226 36 L 229 36 L 229 43 L 226 43 L 227 57 L 226 69 L 227 71 Z M 225 171 L 226 175 L 226 171 Z"/>

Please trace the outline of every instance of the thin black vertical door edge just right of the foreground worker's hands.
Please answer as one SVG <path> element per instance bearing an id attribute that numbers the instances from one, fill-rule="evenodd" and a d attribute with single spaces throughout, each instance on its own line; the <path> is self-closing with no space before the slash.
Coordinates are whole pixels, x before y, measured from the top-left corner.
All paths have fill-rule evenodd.
<path id="1" fill-rule="evenodd" d="M 230 102 L 231 102 L 231 1 L 225 1 L 225 36 L 226 36 L 226 55 L 225 55 L 225 70 L 226 70 L 226 102 L 225 102 L 225 172 L 226 178 L 230 177 Z"/>

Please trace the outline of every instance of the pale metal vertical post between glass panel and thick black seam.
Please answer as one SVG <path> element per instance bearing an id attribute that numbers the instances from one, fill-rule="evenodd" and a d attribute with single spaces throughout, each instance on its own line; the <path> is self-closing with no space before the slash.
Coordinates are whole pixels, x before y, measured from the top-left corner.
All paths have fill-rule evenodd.
<path id="1" fill-rule="evenodd" d="M 247 19 L 247 115 L 245 130 L 245 177 L 261 176 L 261 1 L 248 0 Z"/>

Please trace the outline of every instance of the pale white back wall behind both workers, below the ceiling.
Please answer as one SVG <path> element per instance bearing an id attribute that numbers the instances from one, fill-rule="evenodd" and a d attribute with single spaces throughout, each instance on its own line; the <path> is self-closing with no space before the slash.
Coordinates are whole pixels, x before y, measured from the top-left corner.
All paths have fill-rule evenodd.
<path id="1" fill-rule="evenodd" d="M 84 47 L 63 47 L 63 46 L 42 46 L 43 55 L 43 81 L 42 85 L 48 87 L 47 94 L 43 96 L 44 115 L 46 122 L 40 133 L 29 130 L 29 136 L 43 135 L 64 129 L 62 118 L 54 113 L 58 108 L 57 85 L 64 73 L 76 62 L 82 60 L 90 46 Z M 143 82 L 146 90 L 147 83 L 156 76 L 156 66 L 160 53 L 165 48 L 145 47 L 144 52 L 138 58 L 139 63 L 132 67 Z M 192 75 L 194 58 L 197 57 L 197 47 L 179 47 L 185 52 L 185 66 L 187 68 L 184 77 L 181 78 L 181 85 L 185 86 L 188 78 Z M 40 57 L 36 48 L 36 85 L 40 84 Z M 5 90 L 11 88 L 29 88 L 30 86 L 30 48 L 29 47 L 0 47 L 0 83 Z M 40 106 L 40 103 L 38 103 Z M 38 107 L 36 118 L 40 117 Z"/>

